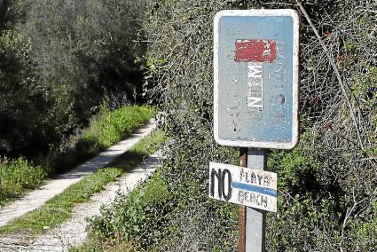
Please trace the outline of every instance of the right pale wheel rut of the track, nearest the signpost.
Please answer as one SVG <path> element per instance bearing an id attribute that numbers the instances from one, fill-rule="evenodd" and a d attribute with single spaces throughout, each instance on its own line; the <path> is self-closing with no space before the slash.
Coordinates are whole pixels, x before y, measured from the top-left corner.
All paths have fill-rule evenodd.
<path id="1" fill-rule="evenodd" d="M 159 154 L 153 154 L 146 159 L 145 163 L 139 164 L 135 169 L 130 170 L 116 182 L 106 185 L 106 189 L 90 197 L 90 202 L 78 204 L 72 217 L 59 227 L 36 238 L 25 241 L 22 237 L 8 237 L 0 239 L 0 251 L 68 251 L 72 246 L 82 244 L 87 236 L 85 228 L 87 218 L 98 216 L 99 209 L 103 204 L 114 201 L 118 192 L 128 194 L 139 182 L 149 177 L 156 167 L 161 165 Z"/>

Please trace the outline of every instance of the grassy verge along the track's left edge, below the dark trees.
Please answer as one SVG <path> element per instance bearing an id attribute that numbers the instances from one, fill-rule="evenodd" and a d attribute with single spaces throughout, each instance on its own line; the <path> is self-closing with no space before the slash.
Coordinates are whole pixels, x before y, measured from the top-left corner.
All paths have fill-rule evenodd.
<path id="1" fill-rule="evenodd" d="M 47 175 L 60 173 L 96 156 L 107 147 L 130 136 L 153 116 L 150 106 L 123 106 L 111 112 L 103 105 L 82 134 L 72 138 L 63 151 L 40 157 L 35 165 L 25 158 L 0 160 L 0 206 L 43 183 Z M 106 175 L 104 175 L 106 177 Z"/>

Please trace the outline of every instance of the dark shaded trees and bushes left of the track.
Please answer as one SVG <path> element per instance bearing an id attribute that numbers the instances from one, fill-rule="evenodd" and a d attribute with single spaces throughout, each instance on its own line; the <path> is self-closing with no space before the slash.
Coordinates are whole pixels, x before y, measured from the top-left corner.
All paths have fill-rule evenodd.
<path id="1" fill-rule="evenodd" d="M 59 151 L 106 97 L 112 109 L 145 102 L 143 10 L 128 0 L 0 2 L 0 155 Z"/>

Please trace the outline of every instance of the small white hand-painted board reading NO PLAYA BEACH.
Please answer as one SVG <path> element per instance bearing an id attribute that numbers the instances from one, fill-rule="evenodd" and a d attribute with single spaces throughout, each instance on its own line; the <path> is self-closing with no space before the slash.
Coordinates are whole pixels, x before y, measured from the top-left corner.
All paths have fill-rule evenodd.
<path id="1" fill-rule="evenodd" d="M 209 162 L 209 197 L 255 209 L 277 211 L 277 174 Z"/>

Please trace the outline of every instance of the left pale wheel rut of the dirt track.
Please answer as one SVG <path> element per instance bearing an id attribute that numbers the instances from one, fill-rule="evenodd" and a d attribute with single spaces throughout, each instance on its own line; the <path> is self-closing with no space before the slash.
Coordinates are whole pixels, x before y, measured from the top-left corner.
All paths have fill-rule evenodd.
<path id="1" fill-rule="evenodd" d="M 13 219 L 29 211 L 40 208 L 46 201 L 66 190 L 68 186 L 79 182 L 82 177 L 88 176 L 97 169 L 104 167 L 107 163 L 113 161 L 115 157 L 130 150 L 132 146 L 148 135 L 154 127 L 155 123 L 153 120 L 149 121 L 143 128 L 135 130 L 130 138 L 111 146 L 105 152 L 77 166 L 75 169 L 49 179 L 41 188 L 27 193 L 20 200 L 13 201 L 11 204 L 4 206 L 0 209 L 0 226 L 8 224 Z M 0 251 L 2 250 L 0 249 Z"/>

